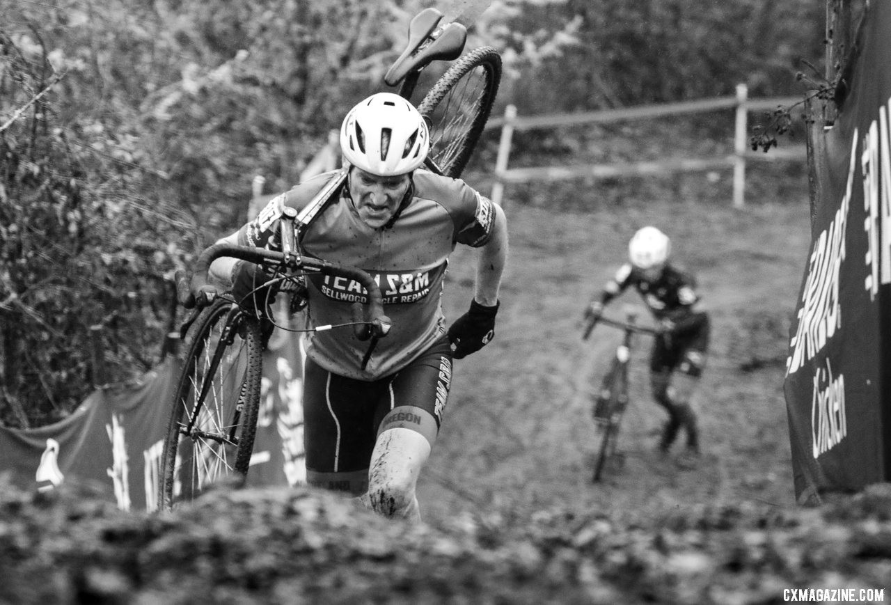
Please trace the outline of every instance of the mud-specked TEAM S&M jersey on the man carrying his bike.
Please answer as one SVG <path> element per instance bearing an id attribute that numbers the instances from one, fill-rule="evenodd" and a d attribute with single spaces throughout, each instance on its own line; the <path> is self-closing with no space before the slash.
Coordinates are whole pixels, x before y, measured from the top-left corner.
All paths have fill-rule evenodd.
<path id="1" fill-rule="evenodd" d="M 339 171 L 298 184 L 270 200 L 257 218 L 241 227 L 241 245 L 279 249 L 282 208 L 298 211 L 315 199 Z M 416 170 L 395 221 L 374 229 L 361 220 L 347 187 L 300 233 L 307 256 L 357 266 L 380 285 L 385 313 L 393 327 L 380 339 L 366 369 L 368 342 L 349 328 L 313 332 L 307 356 L 325 370 L 359 380 L 376 380 L 405 367 L 446 331 L 441 294 L 447 259 L 456 243 L 472 247 L 488 241 L 495 208 L 462 180 Z M 314 275 L 309 279 L 307 321 L 311 326 L 349 323 L 351 306 L 365 302 L 352 280 Z"/>

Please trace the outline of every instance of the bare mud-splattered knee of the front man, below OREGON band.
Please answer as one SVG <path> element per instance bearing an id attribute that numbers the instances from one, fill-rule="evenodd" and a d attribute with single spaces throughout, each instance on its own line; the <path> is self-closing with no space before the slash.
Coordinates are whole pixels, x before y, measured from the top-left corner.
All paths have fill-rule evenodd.
<path id="1" fill-rule="evenodd" d="M 421 510 L 414 492 L 429 455 L 427 438 L 414 430 L 395 428 L 380 433 L 362 503 L 385 517 L 420 523 Z"/>

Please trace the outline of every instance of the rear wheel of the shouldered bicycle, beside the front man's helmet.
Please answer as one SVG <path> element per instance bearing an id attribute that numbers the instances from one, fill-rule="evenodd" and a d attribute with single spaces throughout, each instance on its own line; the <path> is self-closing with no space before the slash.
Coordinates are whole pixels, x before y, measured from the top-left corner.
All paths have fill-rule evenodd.
<path id="1" fill-rule="evenodd" d="M 455 61 L 424 96 L 418 110 L 429 122 L 430 168 L 461 175 L 489 119 L 501 71 L 501 55 L 483 46 Z"/>

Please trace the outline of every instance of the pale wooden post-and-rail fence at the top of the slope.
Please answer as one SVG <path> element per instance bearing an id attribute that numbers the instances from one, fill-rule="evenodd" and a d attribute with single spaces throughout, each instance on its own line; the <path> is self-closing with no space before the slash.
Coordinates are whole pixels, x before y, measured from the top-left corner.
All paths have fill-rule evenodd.
<path id="1" fill-rule="evenodd" d="M 789 106 L 801 102 L 799 97 L 776 97 L 772 99 L 748 99 L 748 88 L 737 86 L 735 96 L 716 97 L 698 101 L 665 103 L 643 107 L 621 108 L 617 110 L 585 111 L 583 113 L 556 114 L 547 116 L 519 117 L 517 108 L 508 105 L 503 118 L 494 118 L 486 124 L 486 129 L 501 127 L 498 155 L 495 159 L 495 184 L 492 187 L 492 200 L 502 203 L 504 186 L 511 183 L 532 181 L 556 181 L 561 179 L 615 176 L 665 175 L 679 172 L 696 172 L 733 168 L 733 206 L 745 205 L 746 162 L 748 160 L 788 161 L 803 160 L 806 157 L 804 146 L 789 150 L 772 150 L 769 153 L 748 151 L 748 112 L 774 110 L 779 106 Z M 736 110 L 733 134 L 733 153 L 724 157 L 705 159 L 666 159 L 664 161 L 634 162 L 625 164 L 588 164 L 565 167 L 508 168 L 511 154 L 511 139 L 516 130 L 535 128 L 571 127 L 582 124 L 606 124 L 622 120 L 662 118 L 689 113 L 703 113 L 715 110 Z"/>

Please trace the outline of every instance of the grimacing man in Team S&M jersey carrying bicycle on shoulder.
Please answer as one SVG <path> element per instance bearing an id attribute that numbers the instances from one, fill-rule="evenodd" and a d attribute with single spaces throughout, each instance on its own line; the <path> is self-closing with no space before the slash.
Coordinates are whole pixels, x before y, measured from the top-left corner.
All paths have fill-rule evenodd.
<path id="1" fill-rule="evenodd" d="M 303 396 L 307 482 L 361 496 L 385 516 L 419 521 L 415 486 L 443 421 L 452 360 L 495 334 L 507 222 L 499 206 L 462 180 L 422 168 L 427 124 L 396 94 L 372 94 L 350 110 L 340 150 L 342 170 L 270 200 L 221 241 L 280 249 L 283 208 L 306 208 L 341 179 L 330 203 L 301 229 L 301 252 L 372 274 L 392 328 L 364 370 L 367 342 L 351 329 L 312 333 Z M 480 253 L 470 310 L 446 330 L 440 296 L 456 243 Z M 232 282 L 233 297 L 260 313 L 274 296 L 269 276 L 244 261 L 220 258 L 211 274 Z M 307 282 L 310 326 L 352 321 L 352 303 L 364 298 L 356 282 Z"/>

